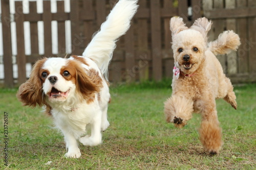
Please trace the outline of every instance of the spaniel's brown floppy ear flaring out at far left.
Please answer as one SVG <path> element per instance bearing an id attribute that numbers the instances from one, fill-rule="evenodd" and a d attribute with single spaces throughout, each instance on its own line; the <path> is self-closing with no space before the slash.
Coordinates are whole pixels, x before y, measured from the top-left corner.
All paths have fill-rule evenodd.
<path id="1" fill-rule="evenodd" d="M 31 106 L 34 108 L 37 105 L 45 105 L 39 71 L 46 60 L 47 58 L 38 60 L 33 66 L 29 80 L 18 88 L 16 96 L 24 106 Z"/>

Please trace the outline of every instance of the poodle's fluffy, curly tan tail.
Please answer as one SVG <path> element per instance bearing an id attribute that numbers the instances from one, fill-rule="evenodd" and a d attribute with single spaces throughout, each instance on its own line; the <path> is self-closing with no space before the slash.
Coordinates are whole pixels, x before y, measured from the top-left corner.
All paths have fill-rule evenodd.
<path id="1" fill-rule="evenodd" d="M 228 54 L 232 50 L 236 51 L 240 44 L 240 38 L 236 33 L 224 31 L 217 40 L 208 43 L 208 49 L 215 55 Z"/>

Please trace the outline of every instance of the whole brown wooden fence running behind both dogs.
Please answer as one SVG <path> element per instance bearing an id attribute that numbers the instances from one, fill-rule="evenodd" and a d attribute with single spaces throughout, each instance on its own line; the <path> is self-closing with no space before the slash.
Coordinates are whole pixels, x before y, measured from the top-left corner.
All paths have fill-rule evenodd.
<path id="1" fill-rule="evenodd" d="M 71 22 L 72 54 L 81 55 L 95 31 L 113 8 L 116 0 L 71 0 L 71 12 L 65 12 L 64 2 L 57 1 L 57 13 L 51 13 L 50 1 L 43 2 L 43 13 L 36 12 L 36 2 L 29 2 L 28 14 L 23 13 L 22 2 L 15 2 L 18 65 L 17 84 L 26 81 L 26 63 L 38 58 L 66 56 L 66 25 Z M 181 16 L 190 26 L 195 19 L 206 16 L 214 21 L 209 33 L 211 40 L 231 29 L 240 34 L 242 45 L 238 53 L 220 56 L 226 74 L 234 82 L 256 81 L 256 3 L 253 0 L 140 0 L 129 31 L 117 42 L 109 67 L 111 82 L 160 81 L 172 77 L 174 65 L 170 41 L 169 19 Z M 2 0 L 5 85 L 14 85 L 12 72 L 9 1 Z M 201 4 L 203 3 L 203 4 Z M 188 7 L 191 16 L 188 16 Z M 24 22 L 30 23 L 31 55 L 25 54 Z M 38 21 L 44 22 L 44 55 L 38 52 Z M 52 52 L 51 22 L 57 21 L 58 54 Z"/>

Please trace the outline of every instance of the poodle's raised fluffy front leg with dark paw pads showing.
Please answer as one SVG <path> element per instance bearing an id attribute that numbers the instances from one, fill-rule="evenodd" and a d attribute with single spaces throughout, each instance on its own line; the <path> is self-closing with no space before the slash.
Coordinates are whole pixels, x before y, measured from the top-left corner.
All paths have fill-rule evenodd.
<path id="1" fill-rule="evenodd" d="M 192 117 L 193 101 L 183 96 L 173 95 L 164 103 L 166 121 L 175 127 L 183 128 Z"/>

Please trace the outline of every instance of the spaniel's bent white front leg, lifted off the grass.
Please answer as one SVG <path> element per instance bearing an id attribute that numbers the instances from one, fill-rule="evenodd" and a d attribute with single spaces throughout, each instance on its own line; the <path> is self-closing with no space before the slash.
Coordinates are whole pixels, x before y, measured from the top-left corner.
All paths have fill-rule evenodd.
<path id="1" fill-rule="evenodd" d="M 91 122 L 91 135 L 83 136 L 79 141 L 83 145 L 89 145 L 91 147 L 101 143 L 101 111 L 93 117 Z"/>

